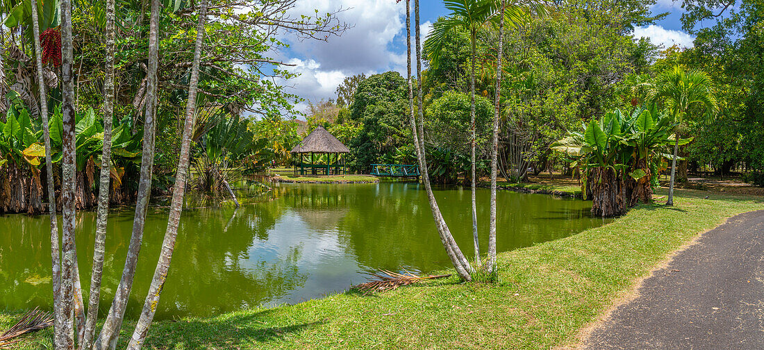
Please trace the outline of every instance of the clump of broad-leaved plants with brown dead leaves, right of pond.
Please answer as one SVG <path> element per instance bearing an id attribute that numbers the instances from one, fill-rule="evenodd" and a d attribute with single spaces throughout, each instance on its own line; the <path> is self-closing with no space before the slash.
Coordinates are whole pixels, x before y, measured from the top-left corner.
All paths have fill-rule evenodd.
<path id="1" fill-rule="evenodd" d="M 637 203 L 652 200 L 665 148 L 673 140 L 672 118 L 656 105 L 625 115 L 616 109 L 571 131 L 552 149 L 581 170 L 581 193 L 592 200 L 595 216 L 617 216 Z M 680 144 L 689 142 L 680 140 Z"/>

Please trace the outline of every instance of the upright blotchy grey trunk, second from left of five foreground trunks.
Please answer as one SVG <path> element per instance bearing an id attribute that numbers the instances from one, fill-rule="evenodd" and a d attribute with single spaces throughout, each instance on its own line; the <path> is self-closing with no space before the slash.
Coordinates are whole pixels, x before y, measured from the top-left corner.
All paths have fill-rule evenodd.
<path id="1" fill-rule="evenodd" d="M 73 82 L 73 53 L 72 53 L 72 3 L 61 0 L 61 86 L 63 119 L 63 168 L 61 186 L 61 204 L 63 206 L 63 264 L 61 271 L 61 306 L 59 312 L 63 319 L 61 326 L 62 348 L 74 348 L 74 264 L 76 251 L 74 247 L 74 190 L 76 173 L 76 151 L 74 139 L 74 82 Z"/>

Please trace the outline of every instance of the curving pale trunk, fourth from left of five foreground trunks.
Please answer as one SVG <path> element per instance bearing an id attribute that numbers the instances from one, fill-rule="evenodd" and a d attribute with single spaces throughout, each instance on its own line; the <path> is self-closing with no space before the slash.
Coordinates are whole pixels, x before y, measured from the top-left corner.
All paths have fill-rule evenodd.
<path id="1" fill-rule="evenodd" d="M 147 71 L 147 105 L 144 116 L 144 142 L 141 157 L 141 180 L 138 183 L 138 196 L 135 203 L 135 217 L 133 219 L 133 232 L 128 246 L 128 255 L 125 258 L 125 268 L 116 289 L 111 309 L 108 310 L 103 329 L 99 339 L 95 342 L 96 350 L 111 349 L 117 347 L 117 336 L 125 318 L 125 309 L 128 305 L 130 290 L 135 277 L 135 267 L 138 265 L 138 254 L 141 252 L 144 224 L 148 209 L 149 196 L 151 195 L 151 173 L 154 169 L 154 118 L 157 109 L 157 64 L 159 61 L 159 0 L 151 0 L 151 20 L 149 21 L 149 54 Z"/>

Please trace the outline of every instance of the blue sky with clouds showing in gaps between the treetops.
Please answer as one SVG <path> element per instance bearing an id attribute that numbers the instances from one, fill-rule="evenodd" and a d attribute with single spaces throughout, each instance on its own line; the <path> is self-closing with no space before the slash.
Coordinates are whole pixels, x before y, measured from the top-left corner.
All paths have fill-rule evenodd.
<path id="1" fill-rule="evenodd" d="M 335 97 L 335 89 L 346 76 L 367 75 L 387 70 L 406 72 L 406 12 L 405 2 L 395 0 L 301 0 L 294 13 L 311 14 L 335 11 L 342 7 L 338 18 L 353 25 L 342 37 L 328 42 L 296 41 L 286 36 L 291 47 L 279 53 L 281 60 L 296 64 L 290 68 L 300 76 L 290 79 L 287 89 L 303 99 L 318 102 Z M 681 2 L 658 0 L 654 14 L 671 12 L 656 25 L 636 28 L 635 37 L 649 37 L 653 43 L 691 47 L 693 37 L 681 30 Z M 420 0 L 422 36 L 432 22 L 447 15 L 441 0 Z M 307 103 L 299 105 L 304 110 Z"/>

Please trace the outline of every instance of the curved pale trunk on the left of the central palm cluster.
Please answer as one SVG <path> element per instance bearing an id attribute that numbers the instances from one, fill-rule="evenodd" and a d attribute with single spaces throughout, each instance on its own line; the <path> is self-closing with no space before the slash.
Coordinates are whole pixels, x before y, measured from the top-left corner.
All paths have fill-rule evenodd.
<path id="1" fill-rule="evenodd" d="M 464 280 L 472 280 L 472 277 L 470 273 L 473 271 L 472 267 L 465 258 L 465 255 L 461 253 L 461 250 L 459 249 L 459 246 L 456 245 L 456 241 L 454 241 L 454 237 L 451 235 L 451 231 L 448 229 L 448 225 L 446 225 L 445 220 L 443 219 L 443 216 L 440 212 L 440 208 L 438 207 L 438 202 L 435 200 L 435 195 L 432 193 L 432 186 L 430 186 L 429 182 L 429 174 L 427 172 L 427 160 L 425 157 L 425 144 L 424 144 L 424 127 L 423 127 L 423 120 L 424 117 L 422 115 L 422 50 L 421 50 L 421 44 L 420 44 L 420 34 L 419 34 L 419 0 L 414 0 L 414 13 L 415 13 L 415 28 L 416 28 L 416 86 L 417 86 L 417 93 L 419 96 L 419 99 L 417 99 L 417 107 L 418 107 L 418 121 L 415 121 L 413 118 L 413 103 L 410 102 L 411 109 L 411 120 L 412 122 L 412 128 L 414 131 L 414 142 L 416 143 L 416 154 L 417 158 L 419 159 L 419 168 L 420 172 L 422 173 L 422 183 L 425 185 L 425 190 L 427 191 L 427 200 L 430 205 L 430 209 L 432 210 L 432 218 L 435 220 L 435 227 L 438 229 L 438 233 L 440 235 L 440 240 L 443 244 L 443 247 L 445 248 L 446 254 L 448 254 L 448 258 L 451 259 L 452 264 L 454 265 L 456 272 L 459 274 L 459 277 L 461 277 Z M 410 24 L 408 24 L 410 26 Z M 410 28 L 408 29 L 410 33 Z M 408 35 L 407 40 L 410 39 L 411 35 Z M 411 44 L 408 45 L 409 50 L 411 47 Z M 411 57 L 411 55 L 409 55 Z M 409 58 L 410 60 L 411 58 Z M 411 79 L 409 77 L 409 79 Z M 413 101 L 413 92 L 410 92 L 410 101 Z"/>

